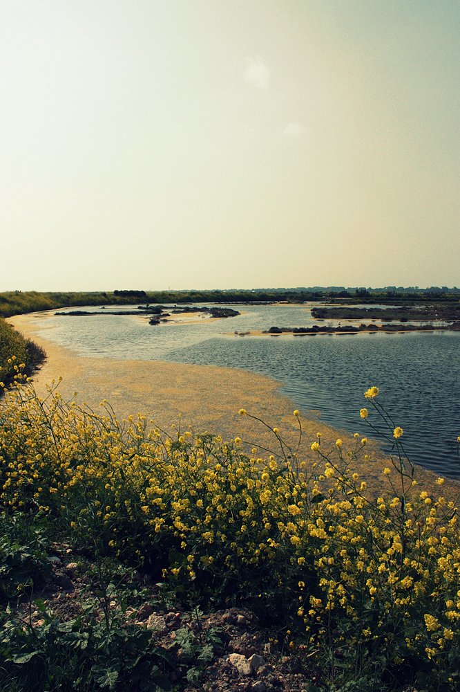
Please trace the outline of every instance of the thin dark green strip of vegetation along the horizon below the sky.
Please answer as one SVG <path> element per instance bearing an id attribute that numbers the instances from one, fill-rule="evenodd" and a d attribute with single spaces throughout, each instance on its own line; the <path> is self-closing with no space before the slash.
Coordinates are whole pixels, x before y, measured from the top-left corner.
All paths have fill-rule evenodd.
<path id="1" fill-rule="evenodd" d="M 394 287 L 391 286 L 391 289 Z M 430 289 L 344 289 L 341 286 L 314 289 L 254 289 L 224 291 L 140 291 L 116 290 L 88 293 L 39 293 L 38 291 L 7 291 L 0 293 L 0 316 L 53 310 L 61 307 L 84 305 L 130 305 L 139 302 L 161 303 L 251 303 L 251 302 L 304 302 L 323 301 L 343 303 L 426 304 L 458 302 L 460 290 L 446 286 Z"/>

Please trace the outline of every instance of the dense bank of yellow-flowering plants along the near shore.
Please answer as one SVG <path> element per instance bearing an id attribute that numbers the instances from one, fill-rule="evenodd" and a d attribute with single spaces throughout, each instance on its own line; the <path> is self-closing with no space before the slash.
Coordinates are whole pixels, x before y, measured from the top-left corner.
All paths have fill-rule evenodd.
<path id="1" fill-rule="evenodd" d="M 366 392 L 368 406 L 383 415 L 377 394 Z M 299 654 L 323 665 L 326 689 L 340 671 L 378 689 L 454 689 L 455 503 L 416 491 L 399 426 L 378 498 L 349 471 L 365 438 L 346 451 L 317 437 L 300 459 L 272 431 L 280 453 L 259 456 L 238 437 L 169 435 L 141 416 L 117 421 L 106 403 L 96 414 L 55 384 L 39 399 L 19 372 L 0 409 L 0 504 L 88 556 L 142 565 L 185 603 L 244 603 L 282 621 Z"/>

